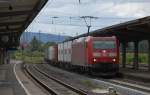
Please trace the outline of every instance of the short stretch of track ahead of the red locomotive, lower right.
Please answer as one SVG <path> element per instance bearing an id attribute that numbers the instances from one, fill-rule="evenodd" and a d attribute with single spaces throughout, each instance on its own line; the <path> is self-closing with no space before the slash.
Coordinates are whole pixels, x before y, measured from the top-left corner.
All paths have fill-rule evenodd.
<path id="1" fill-rule="evenodd" d="M 150 88 L 129 81 L 118 79 L 94 79 L 101 85 L 112 87 L 114 90 L 124 93 L 123 95 L 150 95 Z"/>

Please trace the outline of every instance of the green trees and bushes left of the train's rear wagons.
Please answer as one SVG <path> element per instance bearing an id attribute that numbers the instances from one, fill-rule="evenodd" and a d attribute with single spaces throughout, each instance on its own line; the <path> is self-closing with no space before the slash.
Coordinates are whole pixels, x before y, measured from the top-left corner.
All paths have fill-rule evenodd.
<path id="1" fill-rule="evenodd" d="M 42 63 L 44 59 L 45 50 L 55 45 L 55 42 L 42 43 L 36 37 L 28 44 L 28 47 L 23 51 L 18 50 L 12 54 L 11 58 L 17 60 L 23 60 L 25 63 Z"/>

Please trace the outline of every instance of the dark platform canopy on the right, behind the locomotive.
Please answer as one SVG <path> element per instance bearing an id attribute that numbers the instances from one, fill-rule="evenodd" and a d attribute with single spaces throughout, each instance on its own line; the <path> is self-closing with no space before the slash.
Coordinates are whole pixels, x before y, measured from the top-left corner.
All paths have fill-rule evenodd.
<path id="1" fill-rule="evenodd" d="M 90 32 L 91 36 L 116 36 L 120 41 L 150 40 L 150 16 Z M 87 36 L 79 35 L 69 40 Z"/>

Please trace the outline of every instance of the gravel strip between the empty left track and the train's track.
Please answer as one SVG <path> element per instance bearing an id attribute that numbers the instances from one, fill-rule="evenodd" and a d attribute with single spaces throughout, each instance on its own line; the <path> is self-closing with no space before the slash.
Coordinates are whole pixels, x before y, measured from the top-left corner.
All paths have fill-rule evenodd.
<path id="1" fill-rule="evenodd" d="M 38 64 L 44 72 L 87 92 L 108 93 L 107 86 L 102 86 L 92 79 L 76 73 L 68 72 L 48 64 Z"/>

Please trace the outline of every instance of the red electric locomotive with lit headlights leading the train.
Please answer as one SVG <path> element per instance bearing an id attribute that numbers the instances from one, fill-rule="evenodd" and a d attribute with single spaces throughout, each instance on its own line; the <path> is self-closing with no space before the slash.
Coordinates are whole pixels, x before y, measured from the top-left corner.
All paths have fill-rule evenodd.
<path id="1" fill-rule="evenodd" d="M 72 64 L 91 71 L 116 73 L 119 69 L 119 43 L 116 37 L 85 37 L 73 42 Z"/>

